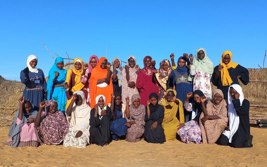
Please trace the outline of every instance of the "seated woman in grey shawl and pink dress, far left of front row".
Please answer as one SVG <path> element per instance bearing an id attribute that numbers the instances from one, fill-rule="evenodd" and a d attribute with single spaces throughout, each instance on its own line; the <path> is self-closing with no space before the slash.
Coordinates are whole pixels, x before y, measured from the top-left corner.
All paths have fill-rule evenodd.
<path id="1" fill-rule="evenodd" d="M 39 146 L 37 136 L 34 132 L 34 120 L 37 111 L 33 110 L 33 104 L 25 97 L 19 98 L 19 111 L 10 126 L 8 137 L 10 138 L 5 145 L 12 147 Z"/>

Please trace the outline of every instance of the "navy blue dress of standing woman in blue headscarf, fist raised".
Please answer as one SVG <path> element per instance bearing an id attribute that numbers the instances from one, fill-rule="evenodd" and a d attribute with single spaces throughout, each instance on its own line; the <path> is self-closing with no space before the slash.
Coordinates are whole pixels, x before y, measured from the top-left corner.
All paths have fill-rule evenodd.
<path id="1" fill-rule="evenodd" d="M 170 77 L 173 76 L 173 77 Z M 176 69 L 172 70 L 168 77 L 167 87 L 175 90 L 177 92 L 176 98 L 180 99 L 183 103 L 186 99 L 188 92 L 193 92 L 193 87 L 191 82 L 188 81 L 189 69 L 184 74 L 179 73 Z"/>

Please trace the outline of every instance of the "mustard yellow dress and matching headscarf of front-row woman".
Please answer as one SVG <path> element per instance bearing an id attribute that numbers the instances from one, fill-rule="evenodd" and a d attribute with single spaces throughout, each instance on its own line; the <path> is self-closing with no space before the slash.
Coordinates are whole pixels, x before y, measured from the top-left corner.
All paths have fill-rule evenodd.
<path id="1" fill-rule="evenodd" d="M 176 97 L 176 91 L 172 89 L 168 89 L 166 94 L 169 91 L 173 91 Z M 164 129 L 164 133 L 166 136 L 166 141 L 174 141 L 176 140 L 176 133 L 177 133 L 177 125 L 179 123 L 184 123 L 184 113 L 183 113 L 183 102 L 177 99 L 179 104 L 177 105 L 175 102 L 167 102 L 164 98 L 161 102 L 161 105 L 164 107 L 164 119 L 162 122 L 162 127 Z M 179 110 L 179 113 L 177 113 Z M 178 118 L 179 120 L 178 120 Z"/>

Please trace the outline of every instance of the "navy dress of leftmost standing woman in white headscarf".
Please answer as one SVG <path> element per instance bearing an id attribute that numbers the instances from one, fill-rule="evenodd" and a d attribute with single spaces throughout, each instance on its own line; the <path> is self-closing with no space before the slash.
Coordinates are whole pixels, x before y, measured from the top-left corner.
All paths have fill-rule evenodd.
<path id="1" fill-rule="evenodd" d="M 45 99 L 47 86 L 43 71 L 38 68 L 38 73 L 29 71 L 29 76 L 25 76 L 22 70 L 20 72 L 20 80 L 25 84 L 22 96 L 24 96 L 25 99 L 30 100 L 34 106 L 33 110 L 39 111 L 39 103 Z"/>

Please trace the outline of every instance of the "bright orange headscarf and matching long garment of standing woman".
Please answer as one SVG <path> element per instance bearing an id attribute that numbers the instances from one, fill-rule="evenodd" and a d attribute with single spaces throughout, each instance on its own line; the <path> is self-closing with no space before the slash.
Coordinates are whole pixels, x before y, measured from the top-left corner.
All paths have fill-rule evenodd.
<path id="1" fill-rule="evenodd" d="M 113 85 L 112 85 L 112 80 L 110 79 L 109 85 L 106 87 L 97 87 L 97 81 L 98 80 L 103 80 L 106 79 L 107 76 L 107 68 L 102 69 L 101 68 L 101 63 L 107 60 L 106 57 L 101 57 L 99 59 L 98 65 L 93 68 L 91 77 L 90 77 L 90 99 L 91 99 L 91 108 L 94 107 L 96 104 L 95 102 L 95 97 L 98 95 L 102 94 L 106 97 L 106 105 L 111 102 L 111 94 L 113 93 Z M 112 77 L 110 75 L 110 77 Z"/>

